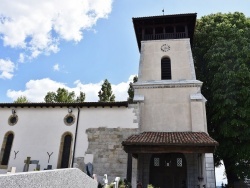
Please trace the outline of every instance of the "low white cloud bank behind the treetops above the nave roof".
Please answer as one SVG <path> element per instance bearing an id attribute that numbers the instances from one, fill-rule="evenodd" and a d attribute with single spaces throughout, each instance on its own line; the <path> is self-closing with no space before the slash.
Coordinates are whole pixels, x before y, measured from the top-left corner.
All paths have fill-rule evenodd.
<path id="1" fill-rule="evenodd" d="M 127 100 L 127 90 L 129 87 L 129 82 L 133 80 L 133 77 L 134 75 L 131 75 L 127 82 L 112 84 L 112 90 L 116 96 L 116 101 Z M 23 91 L 8 90 L 7 96 L 13 101 L 16 100 L 19 96 L 23 95 L 26 96 L 31 102 L 43 102 L 47 92 L 56 91 L 59 87 L 64 87 L 69 91 L 75 91 L 76 95 L 79 95 L 80 91 L 83 91 L 86 94 L 86 102 L 96 102 L 99 99 L 98 91 L 100 91 L 102 83 L 103 81 L 100 81 L 98 83 L 84 84 L 81 83 L 81 81 L 77 80 L 74 82 L 75 87 L 70 88 L 65 83 L 60 83 L 49 78 L 44 78 L 41 80 L 30 80 L 26 83 L 26 88 Z"/>

